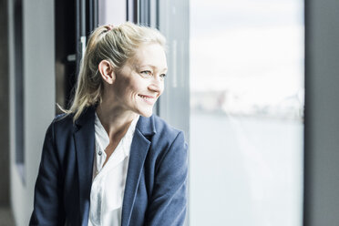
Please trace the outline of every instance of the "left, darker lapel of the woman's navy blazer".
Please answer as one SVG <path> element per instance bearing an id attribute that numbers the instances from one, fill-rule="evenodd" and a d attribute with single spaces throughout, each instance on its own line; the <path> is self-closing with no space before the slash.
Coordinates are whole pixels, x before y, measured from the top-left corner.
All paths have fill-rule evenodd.
<path id="1" fill-rule="evenodd" d="M 77 120 L 74 142 L 77 152 L 77 179 L 81 225 L 87 225 L 95 149 L 94 108 L 87 108 Z"/>

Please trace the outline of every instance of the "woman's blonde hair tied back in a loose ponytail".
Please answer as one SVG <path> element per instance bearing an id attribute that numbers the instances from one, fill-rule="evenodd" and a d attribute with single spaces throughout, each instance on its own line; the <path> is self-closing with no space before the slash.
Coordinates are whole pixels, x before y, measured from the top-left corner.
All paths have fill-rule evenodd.
<path id="1" fill-rule="evenodd" d="M 135 55 L 142 44 L 158 43 L 165 49 L 166 39 L 158 30 L 126 22 L 120 26 L 99 26 L 89 36 L 85 56 L 81 60 L 76 94 L 67 114 L 73 113 L 73 121 L 85 108 L 102 101 L 103 80 L 98 65 L 102 60 L 114 68 L 121 68 L 128 58 Z"/>

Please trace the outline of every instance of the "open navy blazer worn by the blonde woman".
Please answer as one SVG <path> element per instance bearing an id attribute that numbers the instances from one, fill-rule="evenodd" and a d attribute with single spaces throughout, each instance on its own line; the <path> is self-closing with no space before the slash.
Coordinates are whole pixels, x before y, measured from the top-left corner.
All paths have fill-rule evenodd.
<path id="1" fill-rule="evenodd" d="M 29 225 L 87 225 L 95 153 L 95 108 L 46 131 Z M 121 226 L 183 225 L 188 153 L 183 133 L 156 116 L 139 118 L 130 148 Z"/>

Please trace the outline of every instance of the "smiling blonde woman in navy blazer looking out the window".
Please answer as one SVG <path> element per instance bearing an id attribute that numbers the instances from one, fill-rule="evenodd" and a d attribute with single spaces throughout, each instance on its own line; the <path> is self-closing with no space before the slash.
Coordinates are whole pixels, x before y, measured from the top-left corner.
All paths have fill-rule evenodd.
<path id="1" fill-rule="evenodd" d="M 183 225 L 187 145 L 152 115 L 164 46 L 131 23 L 89 37 L 73 105 L 46 131 L 30 225 Z"/>

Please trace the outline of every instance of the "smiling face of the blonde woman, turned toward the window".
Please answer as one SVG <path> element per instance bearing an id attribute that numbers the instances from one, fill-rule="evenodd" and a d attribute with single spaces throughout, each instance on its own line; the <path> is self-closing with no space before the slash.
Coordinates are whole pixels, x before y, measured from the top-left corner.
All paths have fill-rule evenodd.
<path id="1" fill-rule="evenodd" d="M 116 72 L 112 84 L 119 107 L 150 117 L 164 90 L 167 62 L 159 44 L 139 46 L 136 55 Z"/>

